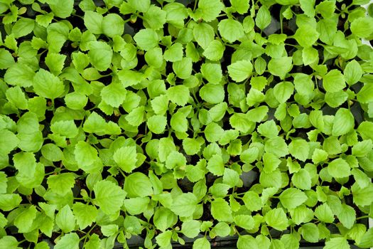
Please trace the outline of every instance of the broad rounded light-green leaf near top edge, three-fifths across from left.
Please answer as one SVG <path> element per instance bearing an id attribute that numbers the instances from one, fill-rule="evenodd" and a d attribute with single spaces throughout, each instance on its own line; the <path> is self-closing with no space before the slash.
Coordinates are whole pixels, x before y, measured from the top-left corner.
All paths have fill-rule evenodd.
<path id="1" fill-rule="evenodd" d="M 244 36 L 244 28 L 242 27 L 242 24 L 231 18 L 220 21 L 217 25 L 217 30 L 219 31 L 220 36 L 229 41 L 229 43 L 234 43 L 234 41 L 237 41 L 239 38 Z"/>

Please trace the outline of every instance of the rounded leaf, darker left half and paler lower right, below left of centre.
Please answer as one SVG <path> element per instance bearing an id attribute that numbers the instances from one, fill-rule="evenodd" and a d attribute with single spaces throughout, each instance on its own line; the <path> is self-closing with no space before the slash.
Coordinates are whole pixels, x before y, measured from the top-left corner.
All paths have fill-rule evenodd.
<path id="1" fill-rule="evenodd" d="M 146 197 L 153 194 L 153 188 L 148 176 L 141 172 L 135 172 L 126 176 L 124 191 L 132 197 Z"/>

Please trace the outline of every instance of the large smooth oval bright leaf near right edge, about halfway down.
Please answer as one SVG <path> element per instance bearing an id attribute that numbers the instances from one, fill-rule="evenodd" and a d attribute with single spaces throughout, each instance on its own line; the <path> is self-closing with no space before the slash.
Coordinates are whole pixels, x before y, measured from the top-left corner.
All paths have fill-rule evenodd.
<path id="1" fill-rule="evenodd" d="M 352 129 L 354 129 L 354 126 L 355 118 L 350 112 L 350 110 L 340 108 L 335 113 L 332 134 L 333 136 L 347 134 L 348 132 L 352 131 Z"/>

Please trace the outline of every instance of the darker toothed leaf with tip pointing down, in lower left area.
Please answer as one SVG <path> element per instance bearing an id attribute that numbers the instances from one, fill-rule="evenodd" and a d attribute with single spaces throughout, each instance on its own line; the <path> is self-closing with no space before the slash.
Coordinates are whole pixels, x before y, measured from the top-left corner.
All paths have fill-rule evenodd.
<path id="1" fill-rule="evenodd" d="M 75 177 L 72 173 L 52 175 L 48 176 L 47 184 L 48 189 L 52 190 L 55 194 L 65 196 L 75 185 Z"/>

